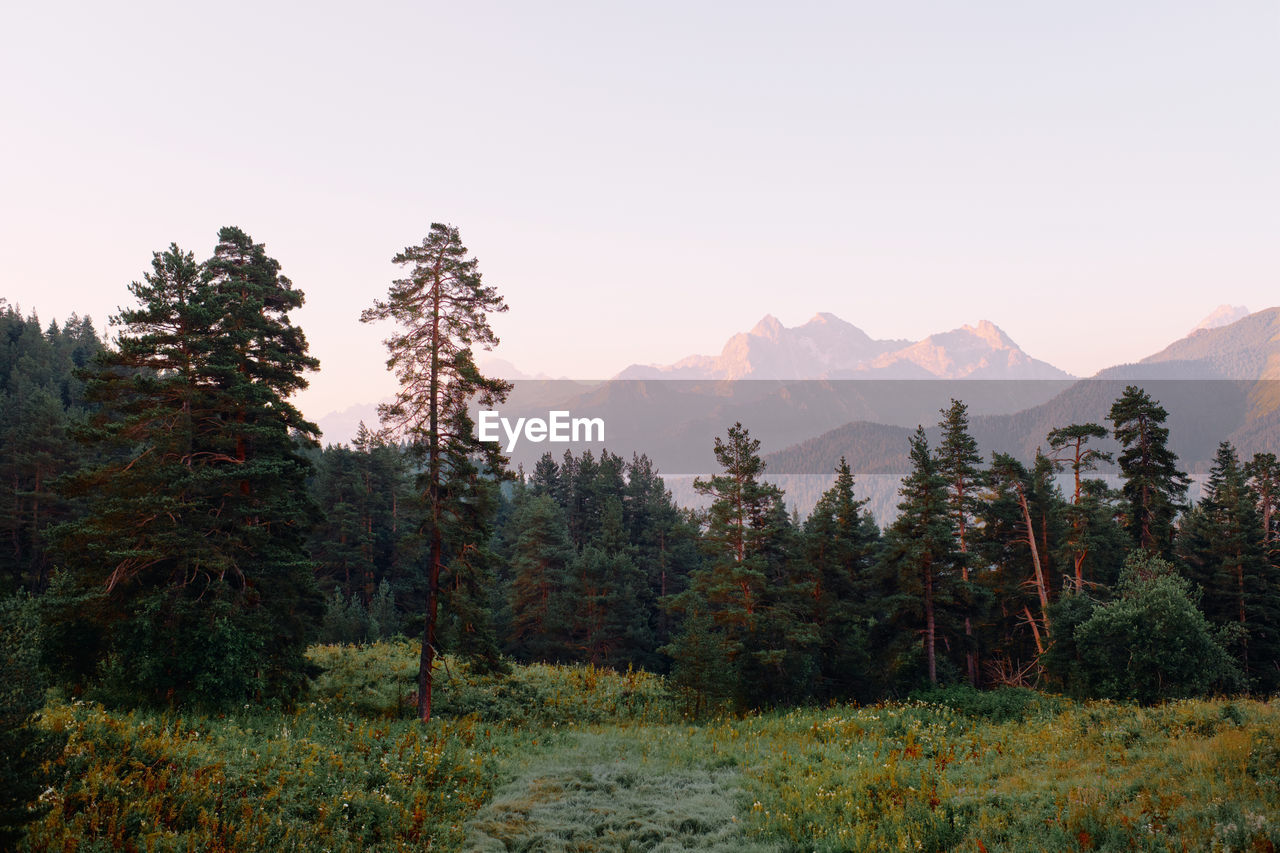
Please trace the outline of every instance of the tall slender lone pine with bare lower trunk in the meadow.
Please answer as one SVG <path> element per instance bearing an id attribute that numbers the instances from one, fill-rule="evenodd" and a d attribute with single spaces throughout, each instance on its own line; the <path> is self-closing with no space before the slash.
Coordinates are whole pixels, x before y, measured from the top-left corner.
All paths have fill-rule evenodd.
<path id="1" fill-rule="evenodd" d="M 489 327 L 490 313 L 506 311 L 497 289 L 480 279 L 479 261 L 468 257 L 452 225 L 434 223 L 417 246 L 397 254 L 393 263 L 408 268 L 396 279 L 387 300 L 378 300 L 360 319 L 364 323 L 394 320 L 398 330 L 387 339 L 387 366 L 399 379 L 394 401 L 379 406 L 383 426 L 410 442 L 422 465 L 419 480 L 425 505 L 422 534 L 426 567 L 422 653 L 419 662 L 417 712 L 431 716 L 431 684 L 436 656 L 440 573 L 444 567 L 447 480 L 456 475 L 448 460 L 486 448 L 471 432 L 452 429 L 456 412 L 471 401 L 492 406 L 506 398 L 511 384 L 480 375 L 472 347 L 493 348 L 498 337 Z M 490 471 L 497 474 L 498 466 Z M 470 537 L 470 534 L 465 534 Z M 474 544 L 474 540 L 471 540 Z M 467 542 L 449 543 L 461 552 Z"/>

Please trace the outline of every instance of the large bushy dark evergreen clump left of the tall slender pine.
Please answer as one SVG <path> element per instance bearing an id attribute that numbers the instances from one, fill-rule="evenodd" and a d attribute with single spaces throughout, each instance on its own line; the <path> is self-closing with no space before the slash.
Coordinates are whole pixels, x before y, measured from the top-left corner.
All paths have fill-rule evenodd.
<path id="1" fill-rule="evenodd" d="M 105 461 L 68 483 L 87 515 L 59 529 L 59 629 L 105 640 L 69 669 L 102 660 L 129 699 L 288 699 L 320 608 L 296 443 L 317 430 L 288 402 L 317 366 L 288 319 L 302 293 L 237 228 L 205 264 L 157 252 L 131 292 L 86 392 Z"/>

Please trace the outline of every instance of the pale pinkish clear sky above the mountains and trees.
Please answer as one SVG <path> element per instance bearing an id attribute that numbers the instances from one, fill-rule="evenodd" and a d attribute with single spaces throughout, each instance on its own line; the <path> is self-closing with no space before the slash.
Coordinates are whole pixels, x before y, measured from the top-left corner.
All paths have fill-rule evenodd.
<path id="1" fill-rule="evenodd" d="M 1280 305 L 1272 0 L 6 4 L 0 79 L 0 296 L 102 328 L 239 225 L 311 418 L 394 389 L 357 318 L 433 222 L 573 378 L 818 311 L 1089 375 Z"/>

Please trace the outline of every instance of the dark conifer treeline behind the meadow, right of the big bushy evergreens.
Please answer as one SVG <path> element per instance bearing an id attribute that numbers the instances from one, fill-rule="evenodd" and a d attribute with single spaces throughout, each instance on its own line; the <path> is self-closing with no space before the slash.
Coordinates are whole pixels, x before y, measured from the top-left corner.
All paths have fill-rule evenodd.
<path id="1" fill-rule="evenodd" d="M 712 500 L 701 512 L 677 507 L 644 456 L 545 455 L 503 489 L 488 625 L 515 660 L 669 670 L 704 698 L 744 706 L 959 681 L 1151 699 L 1270 693 L 1280 471 L 1224 443 L 1203 498 L 1178 516 L 1187 478 L 1165 416 L 1132 387 L 1111 429 L 1055 429 L 1027 465 L 982 460 L 955 401 L 937 447 L 923 429 L 911 439 L 883 530 L 845 464 L 800 523 L 740 424 L 717 439 L 722 473 L 696 484 Z M 1091 476 L 1112 460 L 1089 442 L 1112 432 L 1121 489 Z M 365 433 L 319 456 L 314 493 L 329 512 L 312 555 L 339 590 L 334 624 L 375 607 L 379 589 L 401 605 L 413 594 L 411 469 Z M 361 620 L 348 624 L 356 633 L 329 637 L 361 639 Z M 1187 648 L 1199 651 L 1172 653 Z M 1160 686 L 1143 686 L 1148 676 Z"/>

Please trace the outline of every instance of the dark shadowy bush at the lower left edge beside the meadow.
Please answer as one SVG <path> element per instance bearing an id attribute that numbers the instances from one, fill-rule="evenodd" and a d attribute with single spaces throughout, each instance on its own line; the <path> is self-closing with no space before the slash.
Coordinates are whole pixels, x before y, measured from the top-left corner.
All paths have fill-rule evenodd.
<path id="1" fill-rule="evenodd" d="M 36 725 L 45 699 L 40 617 L 27 596 L 0 598 L 0 848 L 9 849 L 45 808 L 37 806 L 63 738 Z"/>

